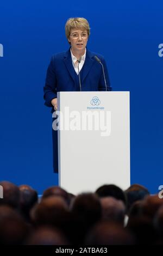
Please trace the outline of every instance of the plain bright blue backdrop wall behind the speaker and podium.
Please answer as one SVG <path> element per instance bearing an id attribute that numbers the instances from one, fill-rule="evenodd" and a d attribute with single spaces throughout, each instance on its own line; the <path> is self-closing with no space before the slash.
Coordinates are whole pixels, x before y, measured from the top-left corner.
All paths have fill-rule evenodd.
<path id="1" fill-rule="evenodd" d="M 66 20 L 79 16 L 90 23 L 87 47 L 104 55 L 112 88 L 130 91 L 131 184 L 158 192 L 163 183 L 162 15 L 162 1 L 1 1 L 0 180 L 29 184 L 39 193 L 57 184 L 43 85 L 52 54 L 69 47 Z"/>

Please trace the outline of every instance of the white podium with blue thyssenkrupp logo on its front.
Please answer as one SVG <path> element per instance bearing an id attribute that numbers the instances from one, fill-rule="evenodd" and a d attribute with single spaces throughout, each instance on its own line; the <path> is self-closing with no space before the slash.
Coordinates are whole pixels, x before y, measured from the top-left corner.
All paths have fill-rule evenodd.
<path id="1" fill-rule="evenodd" d="M 59 186 L 78 194 L 130 186 L 129 92 L 60 92 Z"/>

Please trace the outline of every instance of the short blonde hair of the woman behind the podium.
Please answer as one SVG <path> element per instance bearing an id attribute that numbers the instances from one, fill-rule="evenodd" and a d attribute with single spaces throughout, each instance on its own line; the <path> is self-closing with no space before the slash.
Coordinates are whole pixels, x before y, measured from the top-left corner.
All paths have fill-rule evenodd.
<path id="1" fill-rule="evenodd" d="M 85 18 L 70 18 L 67 20 L 65 25 L 66 38 L 68 39 L 72 29 L 86 30 L 87 35 L 90 35 L 90 25 Z"/>

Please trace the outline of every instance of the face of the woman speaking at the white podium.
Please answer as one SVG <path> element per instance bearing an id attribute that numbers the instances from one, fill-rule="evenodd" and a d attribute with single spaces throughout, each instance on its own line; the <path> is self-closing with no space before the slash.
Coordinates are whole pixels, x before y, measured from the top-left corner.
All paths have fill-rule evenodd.
<path id="1" fill-rule="evenodd" d="M 72 50 L 85 51 L 87 39 L 87 31 L 82 31 L 80 29 L 72 29 L 68 42 L 71 43 Z"/>

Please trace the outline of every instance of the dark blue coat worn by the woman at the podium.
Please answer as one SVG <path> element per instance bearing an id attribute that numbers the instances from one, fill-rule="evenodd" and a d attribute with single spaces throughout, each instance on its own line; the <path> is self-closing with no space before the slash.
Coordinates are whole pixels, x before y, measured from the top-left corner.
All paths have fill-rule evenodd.
<path id="1" fill-rule="evenodd" d="M 95 56 L 97 56 L 103 63 L 107 90 L 111 90 L 108 70 L 103 56 L 86 49 L 85 62 L 81 70 L 82 91 L 96 92 L 106 90 L 102 65 L 97 62 Z M 53 55 L 47 69 L 45 87 L 43 87 L 45 105 L 47 107 L 52 107 L 53 113 L 54 107 L 51 104 L 51 101 L 57 97 L 57 92 L 74 92 L 77 90 L 79 90 L 79 86 L 77 84 L 77 75 L 72 64 L 70 49 L 66 52 Z M 54 172 L 58 172 L 58 135 L 57 131 L 54 130 L 53 168 Z"/>

